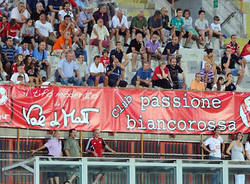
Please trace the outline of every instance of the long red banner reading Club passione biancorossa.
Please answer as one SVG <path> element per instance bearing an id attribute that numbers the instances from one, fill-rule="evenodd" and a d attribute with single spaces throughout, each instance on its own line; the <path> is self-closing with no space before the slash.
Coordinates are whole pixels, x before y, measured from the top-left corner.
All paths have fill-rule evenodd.
<path id="1" fill-rule="evenodd" d="M 250 132 L 250 93 L 0 86 L 0 126 L 175 134 Z"/>

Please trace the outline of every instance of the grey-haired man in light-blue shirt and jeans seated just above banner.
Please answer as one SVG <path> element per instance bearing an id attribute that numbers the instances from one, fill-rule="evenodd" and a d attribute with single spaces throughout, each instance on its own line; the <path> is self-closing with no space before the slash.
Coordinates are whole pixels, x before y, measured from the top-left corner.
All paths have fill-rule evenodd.
<path id="1" fill-rule="evenodd" d="M 74 59 L 74 52 L 72 50 L 66 51 L 66 58 L 58 63 L 57 71 L 59 73 L 59 80 L 62 85 L 72 83 L 74 86 L 79 86 L 82 79 L 80 77 L 79 68 Z M 77 78 L 75 77 L 75 73 Z"/>

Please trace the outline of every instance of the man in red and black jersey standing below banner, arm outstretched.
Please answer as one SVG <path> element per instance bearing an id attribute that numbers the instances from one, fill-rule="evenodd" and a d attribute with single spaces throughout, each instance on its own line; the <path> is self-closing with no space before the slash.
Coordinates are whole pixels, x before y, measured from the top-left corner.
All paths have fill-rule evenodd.
<path id="1" fill-rule="evenodd" d="M 88 140 L 88 144 L 86 146 L 86 152 L 89 153 L 91 157 L 103 157 L 103 148 L 107 149 L 108 151 L 116 154 L 116 151 L 111 149 L 107 143 L 100 137 L 100 130 L 95 129 L 93 131 L 94 137 Z M 93 182 L 93 184 L 97 184 L 99 180 L 103 177 L 103 173 L 99 173 Z"/>

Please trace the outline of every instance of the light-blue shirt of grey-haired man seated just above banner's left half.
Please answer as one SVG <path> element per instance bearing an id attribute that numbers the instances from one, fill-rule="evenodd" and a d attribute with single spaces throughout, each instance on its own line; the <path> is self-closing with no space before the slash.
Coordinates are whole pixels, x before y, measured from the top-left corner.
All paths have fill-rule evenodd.
<path id="1" fill-rule="evenodd" d="M 70 63 L 66 59 L 62 59 L 58 63 L 58 68 L 62 70 L 62 74 L 67 77 L 73 77 L 74 71 L 78 70 L 78 65 L 75 61 L 71 61 Z"/>

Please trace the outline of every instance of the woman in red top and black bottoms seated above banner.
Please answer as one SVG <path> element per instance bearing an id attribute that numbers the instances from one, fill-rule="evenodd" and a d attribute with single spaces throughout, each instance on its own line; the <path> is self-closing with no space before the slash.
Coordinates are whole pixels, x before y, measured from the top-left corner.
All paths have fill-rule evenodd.
<path id="1" fill-rule="evenodd" d="M 164 89 L 173 88 L 173 82 L 165 62 L 161 62 L 161 64 L 155 68 L 152 83 L 153 86 L 158 86 Z"/>

